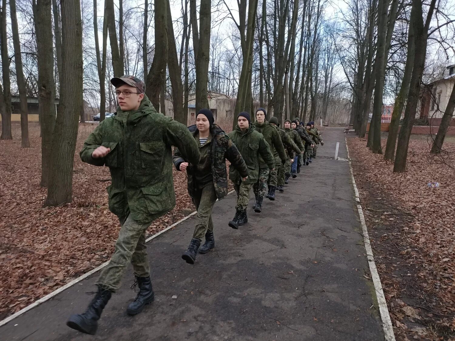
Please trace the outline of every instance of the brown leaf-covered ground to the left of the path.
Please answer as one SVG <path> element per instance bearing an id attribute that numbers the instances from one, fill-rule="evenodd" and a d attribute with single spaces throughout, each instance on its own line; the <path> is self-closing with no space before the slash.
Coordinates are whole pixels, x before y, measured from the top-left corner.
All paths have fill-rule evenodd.
<path id="1" fill-rule="evenodd" d="M 40 187 L 39 126 L 30 124 L 31 148 L 20 147 L 18 124 L 13 140 L 0 141 L 0 319 L 99 266 L 114 250 L 120 225 L 107 206 L 109 170 L 79 158 L 95 127 L 79 126 L 73 202 L 56 208 L 42 207 L 47 192 Z M 150 234 L 194 211 L 186 173 L 174 169 L 174 187 L 177 206 L 153 222 Z"/>

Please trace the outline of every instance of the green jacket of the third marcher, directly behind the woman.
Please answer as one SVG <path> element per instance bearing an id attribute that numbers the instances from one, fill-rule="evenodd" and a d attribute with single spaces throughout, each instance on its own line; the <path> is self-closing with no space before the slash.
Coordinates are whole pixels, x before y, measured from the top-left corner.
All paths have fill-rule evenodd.
<path id="1" fill-rule="evenodd" d="M 275 160 L 269 145 L 264 136 L 256 131 L 254 125 L 250 125 L 245 132 L 242 132 L 237 125 L 236 129 L 230 132 L 228 136 L 237 146 L 247 164 L 248 179 L 245 183 L 254 184 L 258 181 L 260 157 L 262 157 L 269 169 L 275 167 Z M 283 148 L 283 145 L 281 147 Z M 241 180 L 239 172 L 233 165 L 229 166 L 229 179 L 236 184 Z"/>

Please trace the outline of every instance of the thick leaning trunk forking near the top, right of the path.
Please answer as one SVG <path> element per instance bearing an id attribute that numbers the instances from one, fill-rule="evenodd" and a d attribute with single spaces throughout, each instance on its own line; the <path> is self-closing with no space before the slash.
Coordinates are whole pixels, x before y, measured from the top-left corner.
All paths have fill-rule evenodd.
<path id="1" fill-rule="evenodd" d="M 420 83 L 425 66 L 425 55 L 428 41 L 428 28 L 435 10 L 436 0 L 431 0 L 427 12 L 427 19 L 424 25 L 422 18 L 422 3 L 420 0 L 412 0 L 412 10 L 410 27 L 412 25 L 415 37 L 415 58 L 412 70 L 411 84 L 409 88 L 408 100 L 404 111 L 404 120 L 398 136 L 398 147 L 395 155 L 394 172 L 406 171 L 406 159 L 408 156 L 409 139 L 412 126 L 415 120 L 415 111 L 419 100 Z"/>

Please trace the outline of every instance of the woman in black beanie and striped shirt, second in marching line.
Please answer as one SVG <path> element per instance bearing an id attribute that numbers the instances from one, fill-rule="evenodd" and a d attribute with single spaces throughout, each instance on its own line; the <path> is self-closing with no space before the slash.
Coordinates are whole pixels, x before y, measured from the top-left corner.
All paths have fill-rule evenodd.
<path id="1" fill-rule="evenodd" d="M 196 254 L 207 253 L 215 247 L 212 209 L 215 202 L 227 196 L 226 159 L 238 171 L 242 181 L 248 178 L 248 169 L 242 155 L 226 133 L 214 123 L 212 111 L 201 109 L 196 116 L 196 125 L 188 128 L 199 144 L 201 160 L 191 164 L 180 150 L 174 153 L 174 165 L 178 171 L 187 171 L 188 193 L 197 209 L 197 224 L 187 251 L 182 258 L 194 264 Z M 201 247 L 202 238 L 205 243 Z"/>

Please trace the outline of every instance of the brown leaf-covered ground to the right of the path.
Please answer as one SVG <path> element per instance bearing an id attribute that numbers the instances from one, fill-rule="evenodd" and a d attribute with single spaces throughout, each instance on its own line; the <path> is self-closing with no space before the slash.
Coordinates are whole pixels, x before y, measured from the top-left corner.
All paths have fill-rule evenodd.
<path id="1" fill-rule="evenodd" d="M 348 145 L 397 339 L 455 340 L 455 144 L 433 157 L 411 140 L 404 174 L 365 140 Z"/>

